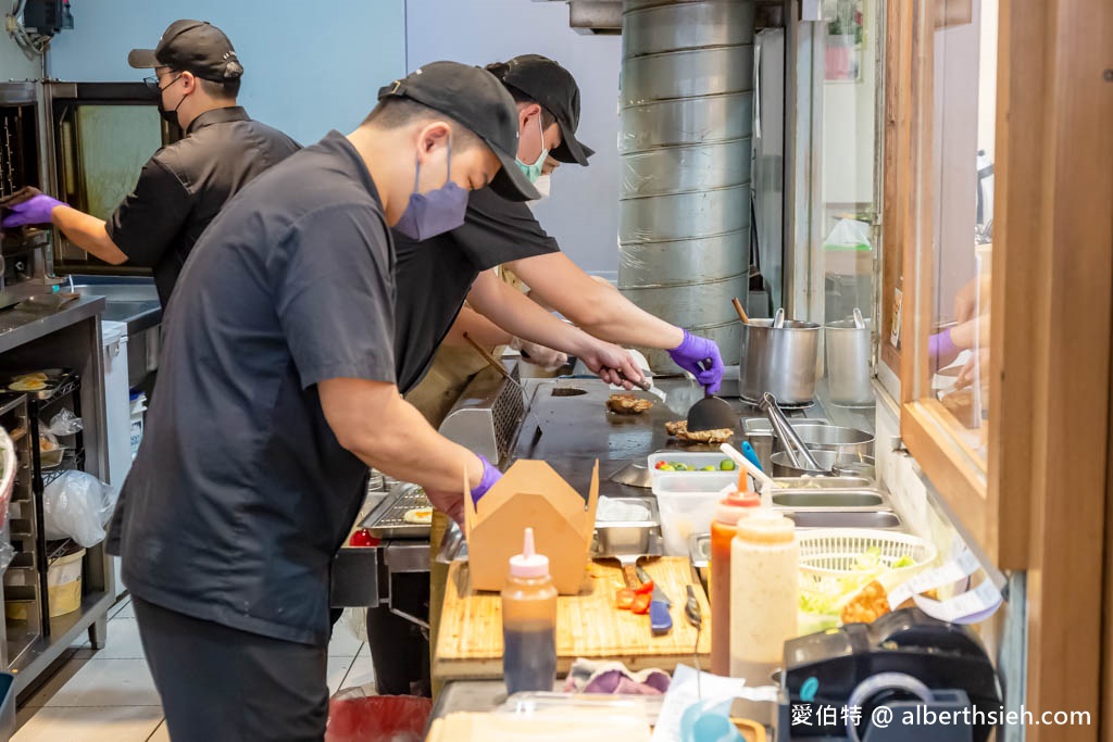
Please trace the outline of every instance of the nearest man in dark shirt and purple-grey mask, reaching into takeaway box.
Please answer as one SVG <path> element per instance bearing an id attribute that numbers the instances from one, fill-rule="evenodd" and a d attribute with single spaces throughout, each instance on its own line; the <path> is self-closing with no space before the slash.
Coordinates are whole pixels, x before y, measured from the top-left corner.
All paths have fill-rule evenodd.
<path id="1" fill-rule="evenodd" d="M 452 229 L 489 184 L 536 197 L 513 101 L 455 62 L 380 96 L 228 204 L 167 311 L 112 533 L 176 742 L 322 739 L 328 571 L 368 465 L 457 516 L 463 483 L 477 498 L 499 477 L 398 395 L 388 229 Z"/>

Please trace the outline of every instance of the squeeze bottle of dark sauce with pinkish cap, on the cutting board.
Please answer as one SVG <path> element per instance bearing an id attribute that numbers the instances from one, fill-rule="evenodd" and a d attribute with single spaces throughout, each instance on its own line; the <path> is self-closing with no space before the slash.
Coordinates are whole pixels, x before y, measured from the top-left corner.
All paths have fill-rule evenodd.
<path id="1" fill-rule="evenodd" d="M 533 547 L 525 530 L 522 553 L 510 558 L 502 591 L 502 673 L 506 692 L 553 690 L 556 682 L 556 587 L 549 557 Z"/>

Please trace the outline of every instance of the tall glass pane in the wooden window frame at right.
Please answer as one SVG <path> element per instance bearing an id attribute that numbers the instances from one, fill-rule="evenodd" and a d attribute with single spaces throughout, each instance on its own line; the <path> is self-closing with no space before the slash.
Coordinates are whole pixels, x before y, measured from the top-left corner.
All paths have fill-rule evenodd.
<path id="1" fill-rule="evenodd" d="M 985 465 L 996 126 L 997 0 L 934 38 L 928 372 L 958 441 Z"/>

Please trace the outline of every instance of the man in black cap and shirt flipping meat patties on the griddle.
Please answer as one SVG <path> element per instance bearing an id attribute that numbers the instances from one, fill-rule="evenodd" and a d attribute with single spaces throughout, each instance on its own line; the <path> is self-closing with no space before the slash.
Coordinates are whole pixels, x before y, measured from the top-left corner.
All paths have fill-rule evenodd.
<path id="1" fill-rule="evenodd" d="M 540 55 L 523 55 L 505 63 L 489 65 L 487 69 L 516 102 L 518 166 L 531 181 L 541 176 L 550 152 L 558 161 L 588 165 L 594 152 L 575 138 L 580 88 L 567 69 Z M 579 348 L 569 347 L 567 338 L 558 335 L 558 326 L 563 323 L 491 274 L 489 268 L 500 264 L 510 267 L 533 294 L 591 336 L 666 349 L 709 392 L 719 389 L 723 364 L 712 340 L 654 317 L 610 286 L 592 280 L 561 253 L 556 240 L 538 224 L 525 204 L 480 191 L 472 195 L 464 225 L 459 229 L 427 244 L 395 235 L 395 244 L 400 295 L 429 297 L 420 305 L 398 306 L 395 353 L 401 369 L 398 386 L 404 392 L 425 375 L 465 298 L 510 334 L 580 356 L 604 380 L 621 382 L 611 368 L 640 378 L 627 354 L 612 358 L 605 347 L 595 345 L 584 357 Z M 436 265 L 423 259 L 430 250 L 442 256 Z M 442 271 L 442 265 L 452 265 L 455 270 Z"/>

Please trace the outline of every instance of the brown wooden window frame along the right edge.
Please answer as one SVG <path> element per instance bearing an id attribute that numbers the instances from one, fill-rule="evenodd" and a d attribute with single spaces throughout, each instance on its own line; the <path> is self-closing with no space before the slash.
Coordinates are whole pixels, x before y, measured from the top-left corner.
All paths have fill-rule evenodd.
<path id="1" fill-rule="evenodd" d="M 883 224 L 903 266 L 887 268 L 885 290 L 892 301 L 904 277 L 904 339 L 885 362 L 900 378 L 909 453 L 985 554 L 1027 574 L 1027 708 L 1094 719 L 1087 728 L 1032 726 L 1026 739 L 1109 739 L 1113 6 L 1001 0 L 999 9 L 986 467 L 971 465 L 934 399 L 917 394 L 929 378 L 933 258 L 917 247 L 932 244 L 923 215 L 932 215 L 937 0 L 888 4 Z"/>

